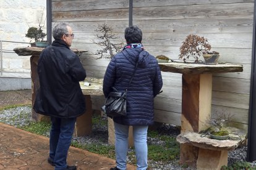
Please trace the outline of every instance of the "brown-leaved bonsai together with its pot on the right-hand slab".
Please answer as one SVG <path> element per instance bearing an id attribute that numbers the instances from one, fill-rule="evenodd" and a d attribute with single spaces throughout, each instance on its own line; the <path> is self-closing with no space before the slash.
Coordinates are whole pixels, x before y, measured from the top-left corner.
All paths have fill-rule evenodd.
<path id="1" fill-rule="evenodd" d="M 216 63 L 220 55 L 218 52 L 211 52 L 210 50 L 211 45 L 208 43 L 207 38 L 189 34 L 179 48 L 179 59 L 183 59 L 185 62 L 189 57 L 194 57 L 195 62 L 198 63 L 198 59 L 203 57 L 205 63 Z"/>

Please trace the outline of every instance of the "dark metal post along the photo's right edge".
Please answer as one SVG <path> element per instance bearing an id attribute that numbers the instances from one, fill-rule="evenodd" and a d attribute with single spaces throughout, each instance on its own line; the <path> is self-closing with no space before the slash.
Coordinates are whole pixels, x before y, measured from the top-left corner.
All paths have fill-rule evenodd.
<path id="1" fill-rule="evenodd" d="M 256 26 L 256 4 L 254 2 L 254 30 L 252 41 L 252 70 L 250 78 L 250 105 L 248 119 L 248 142 L 247 142 L 247 161 L 256 160 L 256 62 L 255 62 L 255 26 Z"/>

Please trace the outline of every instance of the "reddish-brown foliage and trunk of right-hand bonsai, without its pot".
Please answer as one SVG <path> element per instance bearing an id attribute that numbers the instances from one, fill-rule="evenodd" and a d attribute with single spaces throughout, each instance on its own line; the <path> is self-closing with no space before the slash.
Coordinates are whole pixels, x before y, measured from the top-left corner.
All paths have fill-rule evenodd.
<path id="1" fill-rule="evenodd" d="M 203 51 L 210 51 L 211 45 L 204 37 L 200 37 L 195 34 L 189 34 L 182 46 L 179 48 L 179 59 L 185 60 L 189 57 L 194 57 L 195 62 L 198 62 L 198 58 L 203 55 Z"/>

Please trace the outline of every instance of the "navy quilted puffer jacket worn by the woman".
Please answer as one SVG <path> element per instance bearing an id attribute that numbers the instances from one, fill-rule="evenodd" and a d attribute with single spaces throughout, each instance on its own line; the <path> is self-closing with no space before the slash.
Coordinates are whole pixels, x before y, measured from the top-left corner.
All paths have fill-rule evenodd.
<path id="1" fill-rule="evenodd" d="M 135 69 L 135 76 L 129 85 Z M 163 81 L 158 63 L 153 55 L 142 49 L 124 49 L 109 62 L 103 81 L 105 97 L 115 87 L 127 91 L 127 115 L 115 117 L 114 122 L 125 125 L 150 125 L 154 122 L 154 97 L 159 94 Z"/>

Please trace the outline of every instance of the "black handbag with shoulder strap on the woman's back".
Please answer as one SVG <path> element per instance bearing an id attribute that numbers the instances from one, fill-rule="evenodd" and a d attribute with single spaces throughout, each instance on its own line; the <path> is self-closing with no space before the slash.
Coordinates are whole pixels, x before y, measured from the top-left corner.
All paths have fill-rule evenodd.
<path id="1" fill-rule="evenodd" d="M 135 70 L 137 68 L 138 63 L 136 63 Z M 134 73 L 132 78 L 130 79 L 130 83 L 134 78 Z M 113 91 L 109 92 L 108 97 L 106 98 L 105 105 L 101 107 L 104 113 L 110 118 L 117 117 L 117 116 L 125 116 L 126 115 L 126 94 L 127 89 L 124 93 L 118 92 L 116 88 L 112 87 Z"/>

